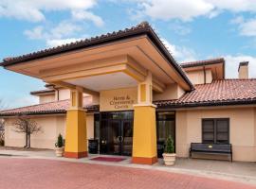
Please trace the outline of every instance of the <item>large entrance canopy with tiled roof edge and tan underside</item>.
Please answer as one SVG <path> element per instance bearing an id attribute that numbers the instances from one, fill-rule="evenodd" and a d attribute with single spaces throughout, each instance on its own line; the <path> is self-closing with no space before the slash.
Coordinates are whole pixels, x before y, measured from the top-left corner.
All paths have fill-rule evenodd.
<path id="1" fill-rule="evenodd" d="M 148 23 L 90 40 L 70 43 L 21 57 L 8 58 L 6 69 L 84 93 L 137 86 L 152 73 L 153 90 L 178 83 L 185 91 L 193 86 Z"/>

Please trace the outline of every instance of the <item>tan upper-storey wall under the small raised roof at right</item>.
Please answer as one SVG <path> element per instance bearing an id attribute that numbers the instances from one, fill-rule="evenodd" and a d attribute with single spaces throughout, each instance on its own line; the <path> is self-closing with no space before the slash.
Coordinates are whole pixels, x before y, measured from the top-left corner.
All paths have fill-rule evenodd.
<path id="1" fill-rule="evenodd" d="M 187 76 L 192 81 L 192 84 L 204 84 L 205 83 L 205 77 L 204 77 L 203 70 L 189 71 L 189 72 L 187 72 Z M 212 81 L 211 70 L 206 70 L 206 83 L 211 83 L 211 81 Z"/>

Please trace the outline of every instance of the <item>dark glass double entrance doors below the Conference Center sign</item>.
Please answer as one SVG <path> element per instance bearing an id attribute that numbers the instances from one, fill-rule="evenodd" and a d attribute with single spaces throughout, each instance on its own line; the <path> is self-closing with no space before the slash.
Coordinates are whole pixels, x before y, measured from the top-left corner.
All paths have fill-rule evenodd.
<path id="1" fill-rule="evenodd" d="M 131 156 L 134 112 L 101 112 L 101 154 Z"/>

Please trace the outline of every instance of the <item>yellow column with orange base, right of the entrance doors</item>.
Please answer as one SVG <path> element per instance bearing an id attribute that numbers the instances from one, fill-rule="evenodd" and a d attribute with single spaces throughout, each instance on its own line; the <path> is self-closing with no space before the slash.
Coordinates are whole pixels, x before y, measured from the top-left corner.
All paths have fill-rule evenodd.
<path id="1" fill-rule="evenodd" d="M 132 163 L 157 162 L 155 105 L 152 104 L 152 74 L 138 84 L 137 101 L 134 105 L 134 136 Z"/>

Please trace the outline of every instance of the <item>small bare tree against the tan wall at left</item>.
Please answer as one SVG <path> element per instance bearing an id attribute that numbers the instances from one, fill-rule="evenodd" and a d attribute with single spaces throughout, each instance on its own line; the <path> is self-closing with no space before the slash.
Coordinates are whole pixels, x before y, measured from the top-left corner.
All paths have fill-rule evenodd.
<path id="1" fill-rule="evenodd" d="M 24 147 L 30 147 L 30 136 L 33 133 L 42 131 L 36 121 L 27 118 L 26 116 L 19 116 L 13 123 L 14 131 L 26 134 L 26 145 Z"/>

